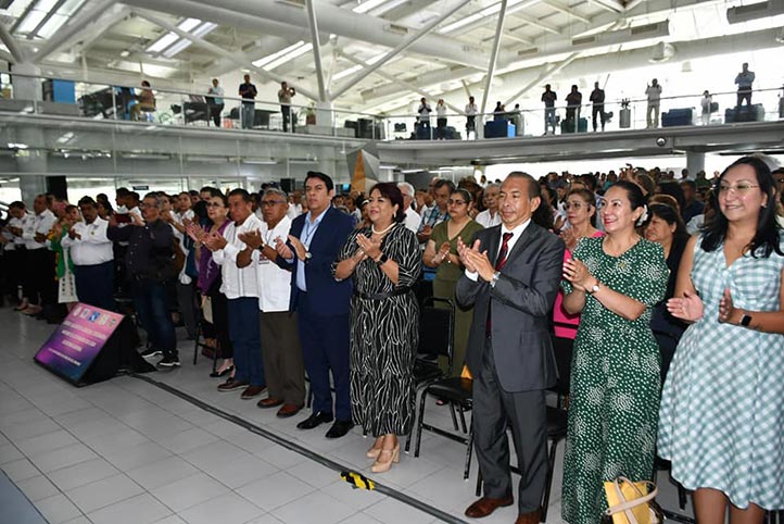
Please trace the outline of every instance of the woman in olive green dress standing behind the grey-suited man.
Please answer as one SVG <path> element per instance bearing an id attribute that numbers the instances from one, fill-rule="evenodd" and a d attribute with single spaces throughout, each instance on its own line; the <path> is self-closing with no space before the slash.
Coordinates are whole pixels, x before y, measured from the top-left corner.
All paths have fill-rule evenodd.
<path id="1" fill-rule="evenodd" d="M 452 370 L 454 376 L 463 371 L 463 361 L 468 346 L 468 332 L 473 320 L 473 309 L 464 310 L 457 305 L 455 287 L 463 276 L 463 265 L 457 254 L 457 239 L 461 238 L 468 244 L 473 234 L 484 229 L 475 222 L 469 212 L 472 208 L 472 197 L 467 189 L 455 189 L 447 201 L 450 217 L 433 227 L 422 255 L 422 262 L 428 267 L 437 267 L 433 279 L 433 297 L 452 300 L 455 304 L 455 333 L 454 358 Z"/>

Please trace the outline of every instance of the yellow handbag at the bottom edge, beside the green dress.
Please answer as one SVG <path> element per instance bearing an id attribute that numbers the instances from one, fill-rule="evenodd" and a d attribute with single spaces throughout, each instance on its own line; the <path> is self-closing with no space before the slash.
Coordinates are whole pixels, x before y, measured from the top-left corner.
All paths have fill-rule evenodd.
<path id="1" fill-rule="evenodd" d="M 605 483 L 607 510 L 603 524 L 659 524 L 663 521 L 656 501 L 658 488 L 652 482 L 633 483 L 624 476 Z"/>

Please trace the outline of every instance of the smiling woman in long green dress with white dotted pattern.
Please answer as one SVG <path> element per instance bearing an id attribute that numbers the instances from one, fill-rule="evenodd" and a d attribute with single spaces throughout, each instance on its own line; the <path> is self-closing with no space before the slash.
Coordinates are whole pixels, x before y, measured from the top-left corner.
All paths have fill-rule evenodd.
<path id="1" fill-rule="evenodd" d="M 605 481 L 650 479 L 656 448 L 661 359 L 649 324 L 669 270 L 661 246 L 635 230 L 647 214 L 638 186 L 610 187 L 599 213 L 607 236 L 581 239 L 564 264 L 564 308 L 582 314 L 564 459 L 570 524 L 599 522 Z"/>

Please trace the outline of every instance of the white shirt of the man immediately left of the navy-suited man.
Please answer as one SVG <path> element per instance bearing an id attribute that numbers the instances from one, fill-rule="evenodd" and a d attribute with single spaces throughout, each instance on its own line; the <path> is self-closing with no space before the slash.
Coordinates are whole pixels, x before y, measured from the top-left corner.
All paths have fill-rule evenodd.
<path id="1" fill-rule="evenodd" d="M 291 219 L 288 216 L 283 216 L 271 229 L 265 222 L 261 229 L 264 244 L 275 246 L 275 239 L 278 237 L 284 240 L 289 229 L 291 229 Z M 257 249 L 253 250 L 251 260 L 258 283 L 258 309 L 264 313 L 289 311 L 291 272 L 281 270 L 274 260 L 265 258 Z"/>

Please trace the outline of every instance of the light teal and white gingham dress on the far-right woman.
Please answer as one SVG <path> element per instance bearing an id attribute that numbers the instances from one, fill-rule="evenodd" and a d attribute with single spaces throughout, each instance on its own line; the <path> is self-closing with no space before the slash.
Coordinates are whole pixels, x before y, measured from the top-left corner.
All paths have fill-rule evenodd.
<path id="1" fill-rule="evenodd" d="M 784 233 L 780 236 L 784 247 Z M 692 282 L 703 320 L 681 338 L 661 398 L 659 456 L 687 489 L 710 487 L 747 508 L 784 509 L 784 336 L 720 324 L 730 289 L 736 308 L 781 308 L 784 257 L 744 255 L 726 266 L 724 250 L 697 240 Z"/>

